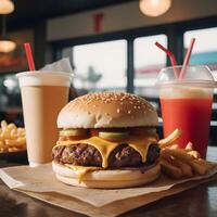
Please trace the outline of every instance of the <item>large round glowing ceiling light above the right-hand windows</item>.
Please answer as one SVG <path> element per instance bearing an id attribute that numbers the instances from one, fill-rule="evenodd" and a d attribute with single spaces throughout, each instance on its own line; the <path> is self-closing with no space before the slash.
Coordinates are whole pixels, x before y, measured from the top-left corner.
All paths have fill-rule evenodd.
<path id="1" fill-rule="evenodd" d="M 171 7 L 171 0 L 140 0 L 139 8 L 148 16 L 159 16 Z"/>

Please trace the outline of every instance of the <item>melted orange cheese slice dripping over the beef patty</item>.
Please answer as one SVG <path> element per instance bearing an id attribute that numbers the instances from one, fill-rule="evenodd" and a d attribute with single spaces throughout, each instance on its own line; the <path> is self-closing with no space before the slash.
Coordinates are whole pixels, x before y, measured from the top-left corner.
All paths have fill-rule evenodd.
<path id="1" fill-rule="evenodd" d="M 102 167 L 107 168 L 108 166 L 108 156 L 112 153 L 112 151 L 117 148 L 120 143 L 127 143 L 129 146 L 135 149 L 142 157 L 142 162 L 145 163 L 146 161 L 146 154 L 150 144 L 153 142 L 156 142 L 156 139 L 154 137 L 129 137 L 124 142 L 112 142 L 104 139 L 101 139 L 99 137 L 91 137 L 84 140 L 68 140 L 68 141 L 58 141 L 56 145 L 72 145 L 72 144 L 78 144 L 78 143 L 86 143 L 89 145 L 94 146 L 102 156 Z"/>

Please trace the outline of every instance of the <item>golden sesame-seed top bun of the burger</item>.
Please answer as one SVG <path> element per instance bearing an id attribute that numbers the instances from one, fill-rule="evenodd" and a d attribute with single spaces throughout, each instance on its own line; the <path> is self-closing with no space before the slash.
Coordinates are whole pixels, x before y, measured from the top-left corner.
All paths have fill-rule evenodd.
<path id="1" fill-rule="evenodd" d="M 152 127 L 157 122 L 156 111 L 142 98 L 124 92 L 97 92 L 66 104 L 59 114 L 58 127 Z"/>

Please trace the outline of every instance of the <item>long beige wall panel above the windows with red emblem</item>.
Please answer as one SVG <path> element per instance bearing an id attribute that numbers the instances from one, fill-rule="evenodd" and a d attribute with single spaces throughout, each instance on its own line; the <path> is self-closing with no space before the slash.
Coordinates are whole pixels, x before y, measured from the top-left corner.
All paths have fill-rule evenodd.
<path id="1" fill-rule="evenodd" d="M 55 41 L 94 35 L 93 14 L 101 12 L 104 14 L 101 33 L 105 34 L 217 15 L 217 1 L 174 0 L 169 11 L 159 17 L 144 16 L 139 10 L 138 1 L 133 1 L 51 18 L 47 22 L 47 40 Z"/>

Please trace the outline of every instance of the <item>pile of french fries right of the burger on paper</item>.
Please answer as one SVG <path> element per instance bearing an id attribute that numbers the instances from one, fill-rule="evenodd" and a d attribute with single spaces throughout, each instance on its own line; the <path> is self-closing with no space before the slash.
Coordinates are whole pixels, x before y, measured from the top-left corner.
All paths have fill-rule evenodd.
<path id="1" fill-rule="evenodd" d="M 174 179 L 192 177 L 194 175 L 205 175 L 214 165 L 201 158 L 197 151 L 193 150 L 193 144 L 189 142 L 186 149 L 179 149 L 174 143 L 180 137 L 180 130 L 176 129 L 167 138 L 159 140 L 162 171 Z"/>

